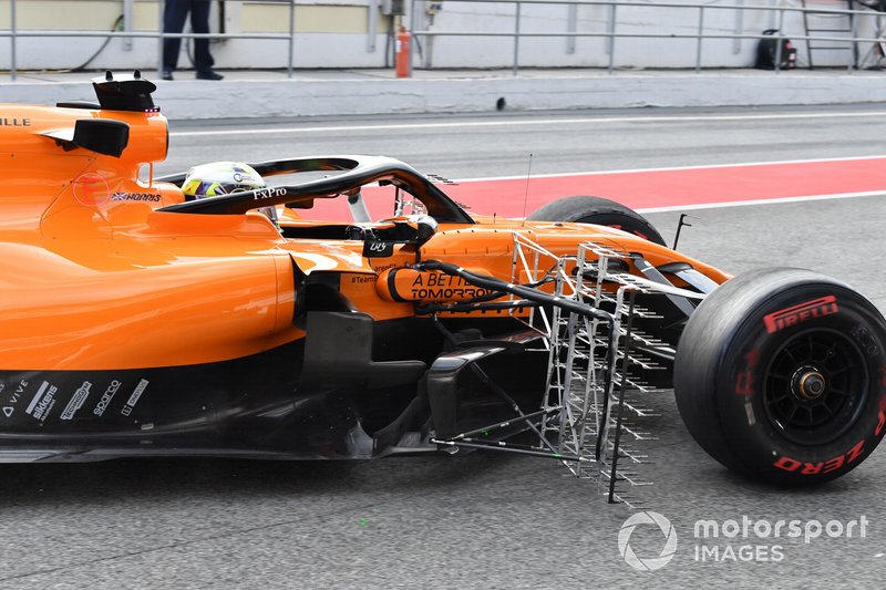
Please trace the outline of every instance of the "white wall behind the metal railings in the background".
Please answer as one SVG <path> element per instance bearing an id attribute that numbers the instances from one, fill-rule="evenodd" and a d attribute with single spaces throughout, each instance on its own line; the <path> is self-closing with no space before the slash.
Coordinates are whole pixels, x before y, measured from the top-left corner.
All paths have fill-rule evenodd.
<path id="1" fill-rule="evenodd" d="M 10 0 L 0 0 L 0 27 L 9 27 Z M 694 0 L 693 0 L 694 1 Z M 720 0 L 709 4 L 704 11 L 704 32 L 709 34 L 733 34 L 736 11 L 714 9 L 714 6 L 734 6 L 741 0 Z M 745 0 L 746 4 L 769 4 L 773 0 Z M 821 6 L 845 8 L 838 0 L 817 0 Z M 797 6 L 799 0 L 774 0 L 780 6 Z M 55 21 L 54 4 L 64 4 L 59 11 L 63 21 Z M 83 11 L 71 7 L 82 4 Z M 431 31 L 513 32 L 515 9 L 507 3 L 459 2 L 445 0 L 442 11 L 434 15 L 433 23 L 424 13 L 426 2 L 415 2 L 419 29 Z M 156 3 L 137 0 L 135 29 L 155 31 L 157 28 Z M 385 63 L 388 20 L 379 17 L 375 29 L 375 49 L 368 49 L 370 0 L 323 0 L 309 4 L 300 0 L 296 9 L 296 40 L 293 65 L 296 68 L 381 68 Z M 38 10 L 37 13 L 33 13 Z M 228 2 L 226 29 L 228 32 L 286 32 L 288 17 L 286 7 L 257 2 Z M 578 32 L 605 32 L 609 7 L 578 7 Z M 71 29 L 109 30 L 119 13 L 122 1 L 79 0 L 19 0 L 19 23 L 34 30 Z M 698 30 L 698 9 L 621 7 L 617 12 L 618 32 L 656 34 L 694 34 Z M 522 13 L 522 30 L 532 32 L 567 31 L 568 8 L 564 4 L 525 4 Z M 217 25 L 217 17 L 212 19 Z M 409 20 L 406 21 L 409 22 Z M 775 15 L 765 11 L 744 11 L 742 30 L 758 34 L 773 25 Z M 832 19 L 832 22 L 833 19 Z M 873 18 L 859 19 L 859 32 L 869 32 Z M 786 13 L 785 34 L 802 34 L 799 13 Z M 415 56 L 416 65 L 433 68 L 508 68 L 514 59 L 513 38 L 439 37 L 420 39 L 424 62 Z M 18 41 L 17 65 L 20 70 L 68 69 L 83 63 L 103 43 L 103 39 L 27 39 Z M 702 65 L 707 68 L 748 68 L 753 64 L 758 42 L 755 40 L 705 40 L 702 45 Z M 795 42 L 801 63 L 806 53 L 802 41 Z M 862 48 L 862 54 L 867 48 Z M 219 68 L 285 68 L 288 62 L 288 44 L 279 40 L 226 40 L 213 43 L 213 54 Z M 697 42 L 693 39 L 616 39 L 615 66 L 620 69 L 693 68 Z M 847 52 L 832 51 L 814 53 L 816 65 L 846 63 Z M 157 42 L 153 39 L 136 39 L 132 49 L 125 50 L 121 39 L 113 39 L 91 63 L 95 69 L 153 69 L 157 63 Z M 183 55 L 181 62 L 187 65 Z M 567 39 L 523 38 L 519 42 L 522 66 L 593 66 L 606 68 L 609 63 L 607 41 L 604 38 L 578 38 L 575 51 L 567 51 Z M 0 39 L 0 68 L 10 64 L 10 44 Z"/>

